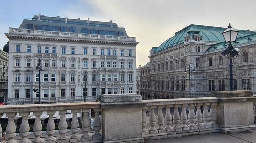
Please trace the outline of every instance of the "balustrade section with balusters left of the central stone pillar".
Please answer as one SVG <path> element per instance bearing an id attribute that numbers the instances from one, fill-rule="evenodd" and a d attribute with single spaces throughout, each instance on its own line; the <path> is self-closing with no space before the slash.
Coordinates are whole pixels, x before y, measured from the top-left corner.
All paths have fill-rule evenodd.
<path id="1" fill-rule="evenodd" d="M 90 131 L 90 120 L 89 120 L 89 112 L 90 109 L 94 109 L 95 112 L 95 119 L 93 122 L 93 130 L 94 133 L 92 136 L 88 134 Z M 71 110 L 72 121 L 71 121 L 71 133 L 72 135 L 68 138 L 66 133 L 68 132 L 68 124 L 65 118 L 65 114 L 67 110 Z M 48 123 L 46 126 L 46 134 L 47 138 L 42 139 L 42 123 L 41 123 L 41 114 L 43 111 L 47 112 L 49 115 Z M 53 115 L 55 112 L 58 111 L 60 114 L 60 121 L 58 124 L 58 133 L 59 137 L 56 139 L 54 137 L 55 134 L 55 123 Z M 83 135 L 80 137 L 77 133 L 79 131 L 79 123 L 77 119 L 77 113 L 82 111 L 83 119 L 82 119 L 82 132 Z M 14 122 L 14 117 L 17 113 L 19 116 L 22 117 L 22 123 L 19 127 L 19 136 L 21 137 L 19 142 L 81 142 L 81 141 L 90 141 L 93 140 L 94 142 L 102 142 L 102 135 L 100 133 L 101 129 L 101 122 L 99 118 L 99 112 L 101 111 L 100 103 L 99 102 L 86 102 L 86 103 L 58 103 L 58 104 L 30 104 L 30 105 L 7 105 L 7 106 L 0 106 L 0 116 L 4 113 L 8 117 L 8 124 L 6 126 L 6 134 L 5 138 L 1 138 L 0 142 L 8 142 L 14 143 L 14 137 L 16 136 L 16 125 Z M 33 125 L 33 136 L 34 139 L 28 139 L 30 135 L 29 130 L 29 123 L 28 123 L 28 115 L 33 112 L 35 116 L 35 122 Z M 0 134 L 2 134 L 2 128 L 0 125 Z"/>

